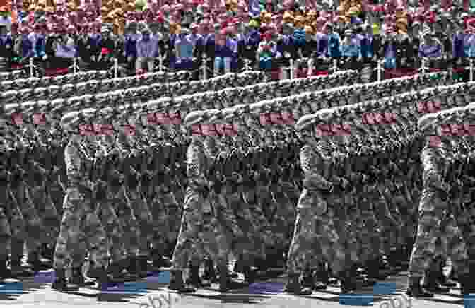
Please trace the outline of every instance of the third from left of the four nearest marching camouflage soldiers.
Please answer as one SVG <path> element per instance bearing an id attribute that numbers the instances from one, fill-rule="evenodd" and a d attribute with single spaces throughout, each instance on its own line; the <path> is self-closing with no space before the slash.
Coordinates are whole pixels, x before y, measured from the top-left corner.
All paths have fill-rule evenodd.
<path id="1" fill-rule="evenodd" d="M 305 178 L 297 206 L 293 239 L 288 251 L 289 280 L 285 290 L 297 295 L 307 295 L 312 292 L 301 287 L 299 273 L 303 265 L 308 263 L 310 253 L 313 252 L 314 256 L 322 256 L 331 263 L 332 270 L 343 279 L 342 292 L 348 292 L 353 289 L 353 286 L 351 279 L 345 274 L 346 252 L 341 244 L 336 221 L 332 218 L 333 215 L 338 215 L 334 212 L 337 207 L 330 208 L 334 206 L 332 199 L 329 198 L 334 184 L 322 174 L 317 173 L 318 170 L 329 172 L 329 168 L 332 168 L 329 158 L 324 156 L 329 148 L 326 142 L 315 138 L 312 119 L 300 119 L 297 125 L 298 131 L 306 142 L 300 150 L 300 166 Z"/>

